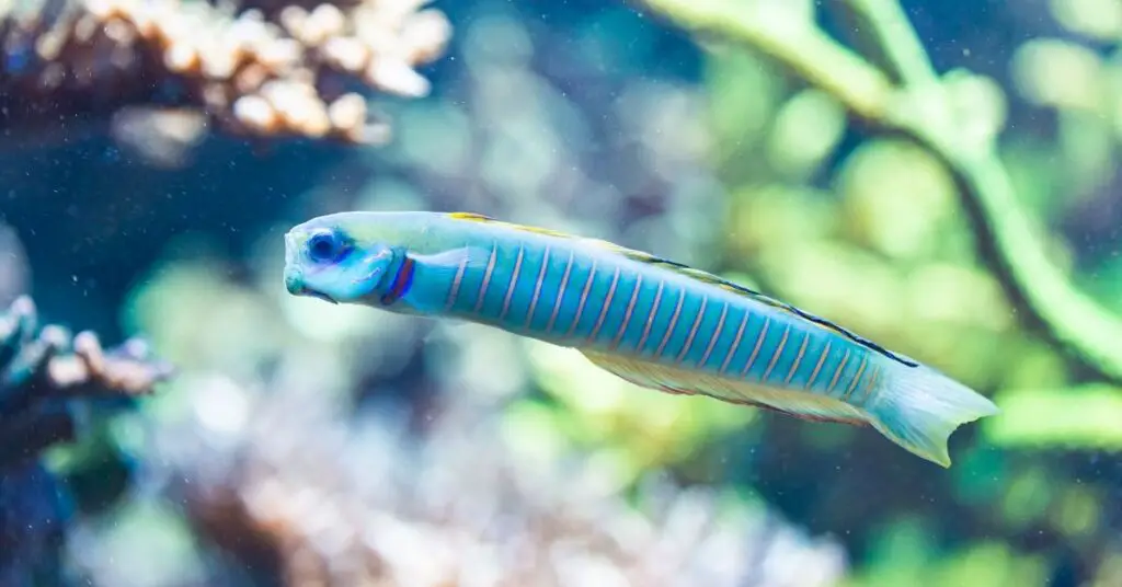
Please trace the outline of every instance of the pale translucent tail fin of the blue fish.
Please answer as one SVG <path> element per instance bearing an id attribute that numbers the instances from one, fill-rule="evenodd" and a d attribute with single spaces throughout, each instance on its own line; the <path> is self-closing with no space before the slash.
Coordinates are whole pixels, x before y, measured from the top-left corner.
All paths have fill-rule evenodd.
<path id="1" fill-rule="evenodd" d="M 947 440 L 951 432 L 1001 412 L 986 397 L 922 365 L 893 368 L 864 409 L 882 434 L 944 467 L 950 467 Z"/>

